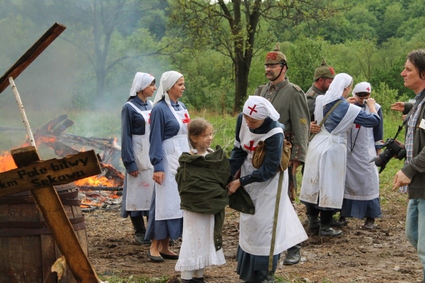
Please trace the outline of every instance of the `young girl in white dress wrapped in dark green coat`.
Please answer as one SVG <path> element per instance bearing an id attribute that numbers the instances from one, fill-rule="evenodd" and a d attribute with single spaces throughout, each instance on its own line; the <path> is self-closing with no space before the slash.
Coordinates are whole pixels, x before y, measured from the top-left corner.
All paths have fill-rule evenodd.
<path id="1" fill-rule="evenodd" d="M 176 174 L 183 209 L 183 242 L 175 269 L 182 272 L 182 283 L 203 283 L 206 266 L 225 264 L 221 228 L 228 203 L 224 186 L 230 166 L 219 146 L 215 151 L 210 148 L 213 127 L 206 120 L 193 120 L 188 136 L 193 149 L 180 156 Z"/>

